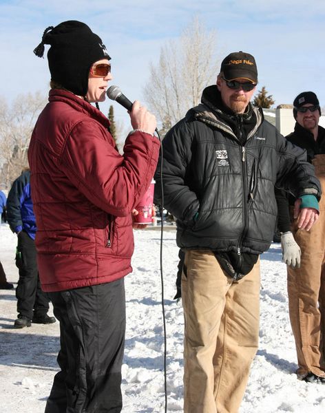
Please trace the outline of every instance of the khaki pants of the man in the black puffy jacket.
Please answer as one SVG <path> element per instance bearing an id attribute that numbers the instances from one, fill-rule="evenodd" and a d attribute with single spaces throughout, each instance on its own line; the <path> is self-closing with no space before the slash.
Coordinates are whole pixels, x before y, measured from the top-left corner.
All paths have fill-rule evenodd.
<path id="1" fill-rule="evenodd" d="M 209 250 L 185 253 L 184 412 L 238 412 L 258 350 L 260 262 L 233 282 Z"/>

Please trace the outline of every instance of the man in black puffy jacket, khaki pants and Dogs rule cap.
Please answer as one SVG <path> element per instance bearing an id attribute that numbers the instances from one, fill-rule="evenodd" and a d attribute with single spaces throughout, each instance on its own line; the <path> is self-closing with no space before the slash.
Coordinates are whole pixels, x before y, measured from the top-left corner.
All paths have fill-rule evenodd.
<path id="1" fill-rule="evenodd" d="M 297 198 L 300 229 L 318 217 L 313 167 L 252 107 L 257 83 L 253 56 L 229 54 L 217 84 L 162 142 L 164 207 L 176 218 L 185 251 L 185 413 L 240 407 L 258 348 L 258 257 L 273 239 L 275 184 Z M 161 204 L 159 171 L 160 165 Z"/>

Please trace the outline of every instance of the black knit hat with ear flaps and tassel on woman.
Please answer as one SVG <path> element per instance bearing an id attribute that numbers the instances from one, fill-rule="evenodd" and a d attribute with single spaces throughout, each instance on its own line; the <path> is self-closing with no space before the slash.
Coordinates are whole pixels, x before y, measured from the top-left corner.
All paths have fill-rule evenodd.
<path id="1" fill-rule="evenodd" d="M 63 21 L 45 29 L 34 50 L 36 56 L 43 57 L 44 45 L 51 46 L 48 65 L 52 81 L 78 96 L 87 94 L 90 67 L 101 59 L 111 59 L 101 38 L 81 21 Z"/>

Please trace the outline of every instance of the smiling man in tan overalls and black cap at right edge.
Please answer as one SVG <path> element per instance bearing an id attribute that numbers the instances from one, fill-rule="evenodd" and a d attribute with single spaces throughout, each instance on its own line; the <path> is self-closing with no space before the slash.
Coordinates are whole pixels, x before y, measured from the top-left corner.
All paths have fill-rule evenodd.
<path id="1" fill-rule="evenodd" d="M 293 101 L 295 130 L 286 139 L 306 149 L 325 191 L 325 129 L 318 125 L 321 110 L 314 92 Z M 293 214 L 294 197 L 276 191 L 283 260 L 288 265 L 289 315 L 297 350 L 297 378 L 325 384 L 325 198 L 319 220 L 302 231 Z"/>

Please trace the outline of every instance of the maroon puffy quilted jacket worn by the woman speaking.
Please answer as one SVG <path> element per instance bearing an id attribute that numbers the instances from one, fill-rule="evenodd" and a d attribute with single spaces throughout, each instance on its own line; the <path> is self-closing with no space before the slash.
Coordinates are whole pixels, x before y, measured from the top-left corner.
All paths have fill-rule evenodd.
<path id="1" fill-rule="evenodd" d="M 134 132 L 121 156 L 109 121 L 74 94 L 52 89 L 28 160 L 44 291 L 112 282 L 132 271 L 131 211 L 149 187 L 160 143 Z"/>

